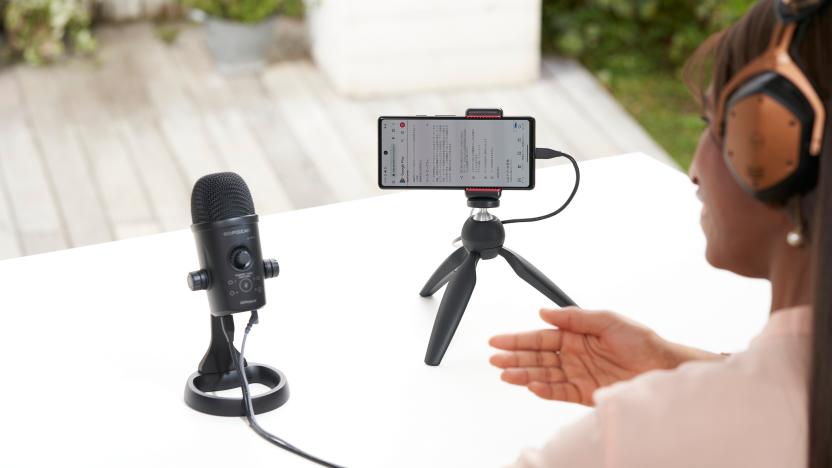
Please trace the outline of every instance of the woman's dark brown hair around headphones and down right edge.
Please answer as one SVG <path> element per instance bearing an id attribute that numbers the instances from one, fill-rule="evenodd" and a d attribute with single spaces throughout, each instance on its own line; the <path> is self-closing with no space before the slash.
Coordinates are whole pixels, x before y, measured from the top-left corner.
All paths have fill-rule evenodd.
<path id="1" fill-rule="evenodd" d="M 713 35 L 685 65 L 688 88 L 705 105 L 769 44 L 777 21 L 772 0 L 760 0 L 730 28 Z M 826 104 L 827 128 L 818 184 L 804 196 L 811 232 L 814 318 L 809 373 L 808 468 L 832 467 L 832 7 L 803 26 L 797 63 Z"/>

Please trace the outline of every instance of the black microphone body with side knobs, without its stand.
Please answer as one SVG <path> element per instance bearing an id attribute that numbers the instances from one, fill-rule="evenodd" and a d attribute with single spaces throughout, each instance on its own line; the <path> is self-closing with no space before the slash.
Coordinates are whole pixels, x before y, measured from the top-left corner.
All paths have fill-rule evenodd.
<path id="1" fill-rule="evenodd" d="M 266 278 L 278 275 L 274 259 L 263 259 L 254 202 L 245 181 L 233 172 L 201 177 L 191 192 L 191 231 L 198 271 L 188 274 L 191 291 L 207 290 L 217 317 L 266 305 Z"/>

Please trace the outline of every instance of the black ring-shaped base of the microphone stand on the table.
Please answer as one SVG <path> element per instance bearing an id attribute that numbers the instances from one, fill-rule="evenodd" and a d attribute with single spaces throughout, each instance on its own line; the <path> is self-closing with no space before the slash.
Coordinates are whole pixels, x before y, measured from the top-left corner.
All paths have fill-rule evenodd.
<path id="1" fill-rule="evenodd" d="M 246 366 L 246 378 L 250 384 L 259 383 L 269 387 L 269 391 L 252 396 L 254 414 L 277 409 L 289 399 L 286 376 L 274 367 L 249 363 Z M 185 403 L 201 413 L 214 416 L 245 416 L 242 398 L 221 397 L 210 393 L 240 388 L 240 384 L 236 369 L 216 374 L 194 372 L 185 386 Z"/>

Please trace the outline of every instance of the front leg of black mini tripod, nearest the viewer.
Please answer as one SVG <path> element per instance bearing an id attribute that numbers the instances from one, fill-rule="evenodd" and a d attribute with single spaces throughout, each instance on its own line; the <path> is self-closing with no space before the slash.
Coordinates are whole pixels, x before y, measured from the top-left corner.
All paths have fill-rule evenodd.
<path id="1" fill-rule="evenodd" d="M 439 311 L 436 312 L 436 321 L 433 322 L 433 331 L 430 333 L 428 350 L 425 353 L 425 364 L 429 366 L 438 366 L 448 345 L 451 344 L 477 283 L 476 268 L 479 259 L 478 253 L 468 253 L 448 283 L 442 302 L 439 303 Z"/>

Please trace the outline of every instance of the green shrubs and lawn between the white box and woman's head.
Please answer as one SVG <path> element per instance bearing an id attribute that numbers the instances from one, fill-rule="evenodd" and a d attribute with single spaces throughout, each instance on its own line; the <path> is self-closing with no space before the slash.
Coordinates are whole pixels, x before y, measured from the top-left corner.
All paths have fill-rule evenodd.
<path id="1" fill-rule="evenodd" d="M 683 168 L 704 128 L 679 76 L 755 0 L 543 0 L 544 52 L 579 59 Z"/>

